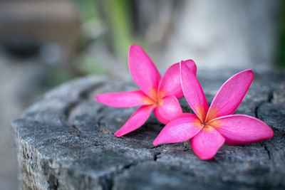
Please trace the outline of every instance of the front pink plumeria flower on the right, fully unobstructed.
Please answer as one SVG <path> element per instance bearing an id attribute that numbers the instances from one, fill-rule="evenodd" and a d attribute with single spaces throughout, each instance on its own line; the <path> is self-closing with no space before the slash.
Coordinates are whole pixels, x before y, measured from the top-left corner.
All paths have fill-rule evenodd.
<path id="1" fill-rule="evenodd" d="M 169 122 L 153 142 L 155 146 L 190 139 L 191 147 L 200 159 L 212 159 L 224 143 L 250 144 L 273 136 L 271 128 L 261 120 L 248 115 L 232 115 L 252 84 L 252 70 L 229 78 L 210 107 L 196 76 L 181 63 L 180 77 L 183 93 L 195 115 L 184 113 Z"/>

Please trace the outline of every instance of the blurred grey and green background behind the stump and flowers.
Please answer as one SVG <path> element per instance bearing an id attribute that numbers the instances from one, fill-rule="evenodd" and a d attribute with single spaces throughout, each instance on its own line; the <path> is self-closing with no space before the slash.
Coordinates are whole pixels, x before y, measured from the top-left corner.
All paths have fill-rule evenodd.
<path id="1" fill-rule="evenodd" d="M 199 69 L 282 68 L 285 1 L 0 1 L 1 189 L 18 189 L 10 120 L 72 78 L 130 78 L 133 43 L 161 73 L 189 58 Z"/>

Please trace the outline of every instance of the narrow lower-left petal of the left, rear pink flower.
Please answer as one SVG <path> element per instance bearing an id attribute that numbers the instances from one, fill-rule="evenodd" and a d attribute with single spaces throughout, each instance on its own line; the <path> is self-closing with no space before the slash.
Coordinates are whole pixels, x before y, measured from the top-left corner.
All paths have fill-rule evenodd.
<path id="1" fill-rule="evenodd" d="M 140 126 L 142 126 L 150 114 L 152 113 L 154 106 L 153 105 L 143 105 L 138 108 L 132 116 L 128 119 L 127 122 L 120 128 L 117 132 L 115 132 L 115 136 L 122 137 L 129 132 L 137 130 Z"/>

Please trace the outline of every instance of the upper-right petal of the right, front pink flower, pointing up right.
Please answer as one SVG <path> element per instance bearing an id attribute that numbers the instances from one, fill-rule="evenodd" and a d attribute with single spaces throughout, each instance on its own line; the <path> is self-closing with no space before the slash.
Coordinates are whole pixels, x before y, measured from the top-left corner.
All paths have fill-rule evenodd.
<path id="1" fill-rule="evenodd" d="M 254 73 L 250 69 L 229 78 L 214 97 L 206 120 L 233 114 L 249 90 L 252 80 L 254 80 Z"/>

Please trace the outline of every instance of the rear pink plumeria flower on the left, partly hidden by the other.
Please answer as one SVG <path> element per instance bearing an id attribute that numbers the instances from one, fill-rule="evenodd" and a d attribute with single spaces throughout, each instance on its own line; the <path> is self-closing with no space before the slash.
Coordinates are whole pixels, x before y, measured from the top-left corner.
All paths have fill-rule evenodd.
<path id="1" fill-rule="evenodd" d="M 170 66 L 161 78 L 152 60 L 138 45 L 130 46 L 129 68 L 135 83 L 140 90 L 105 93 L 98 95 L 95 100 L 111 107 L 137 107 L 125 125 L 115 132 L 115 136 L 122 137 L 142 126 L 152 111 L 157 119 L 167 124 L 182 114 L 177 99 L 183 97 L 180 83 L 180 63 Z M 196 75 L 196 65 L 192 60 L 185 60 L 182 65 L 189 68 Z"/>

